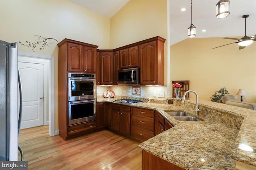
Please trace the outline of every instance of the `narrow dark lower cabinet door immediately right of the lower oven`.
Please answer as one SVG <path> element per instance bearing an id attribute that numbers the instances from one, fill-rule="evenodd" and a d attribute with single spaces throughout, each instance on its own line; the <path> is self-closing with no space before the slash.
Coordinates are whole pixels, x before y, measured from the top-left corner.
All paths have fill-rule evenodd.
<path id="1" fill-rule="evenodd" d="M 104 102 L 96 103 L 96 126 L 106 126 L 106 111 Z"/>

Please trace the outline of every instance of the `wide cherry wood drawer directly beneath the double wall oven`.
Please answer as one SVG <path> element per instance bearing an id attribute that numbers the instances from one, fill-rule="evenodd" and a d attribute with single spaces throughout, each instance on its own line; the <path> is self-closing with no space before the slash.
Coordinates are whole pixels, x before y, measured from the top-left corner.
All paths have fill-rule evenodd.
<path id="1" fill-rule="evenodd" d="M 81 123 L 78 125 L 68 126 L 68 135 L 80 133 L 82 131 L 96 128 L 96 121 L 89 121 L 87 123 Z"/>

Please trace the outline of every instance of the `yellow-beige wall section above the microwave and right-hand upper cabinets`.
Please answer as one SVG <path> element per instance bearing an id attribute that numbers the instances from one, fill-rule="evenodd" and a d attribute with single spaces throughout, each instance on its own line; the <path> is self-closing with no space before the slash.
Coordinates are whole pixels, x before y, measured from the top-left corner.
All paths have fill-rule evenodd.
<path id="1" fill-rule="evenodd" d="M 110 19 L 110 48 L 118 48 L 151 37 L 166 39 L 165 84 L 167 82 L 167 0 L 130 0 Z"/>

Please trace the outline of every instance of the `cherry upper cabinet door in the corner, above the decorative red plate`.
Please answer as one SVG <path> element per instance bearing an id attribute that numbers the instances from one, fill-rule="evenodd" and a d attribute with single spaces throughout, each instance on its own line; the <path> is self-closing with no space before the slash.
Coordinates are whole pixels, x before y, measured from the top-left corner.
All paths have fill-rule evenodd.
<path id="1" fill-rule="evenodd" d="M 112 85 L 113 84 L 113 53 L 102 52 L 101 53 L 101 84 Z"/>

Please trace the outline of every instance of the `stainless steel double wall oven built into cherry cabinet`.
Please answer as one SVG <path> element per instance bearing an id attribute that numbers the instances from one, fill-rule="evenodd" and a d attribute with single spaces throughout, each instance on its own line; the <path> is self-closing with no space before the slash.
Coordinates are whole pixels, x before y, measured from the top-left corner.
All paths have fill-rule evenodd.
<path id="1" fill-rule="evenodd" d="M 95 74 L 68 73 L 68 125 L 95 120 Z"/>

